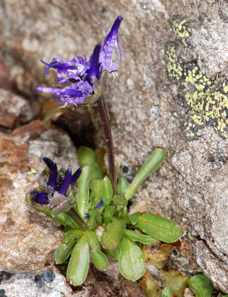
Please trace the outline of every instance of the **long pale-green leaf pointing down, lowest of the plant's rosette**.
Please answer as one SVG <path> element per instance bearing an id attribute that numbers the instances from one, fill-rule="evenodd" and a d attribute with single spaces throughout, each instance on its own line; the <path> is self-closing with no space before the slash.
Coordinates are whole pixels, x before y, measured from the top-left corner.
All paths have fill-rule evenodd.
<path id="1" fill-rule="evenodd" d="M 82 285 L 89 269 L 89 244 L 86 235 L 80 237 L 74 247 L 67 268 L 67 280 L 74 286 Z"/>

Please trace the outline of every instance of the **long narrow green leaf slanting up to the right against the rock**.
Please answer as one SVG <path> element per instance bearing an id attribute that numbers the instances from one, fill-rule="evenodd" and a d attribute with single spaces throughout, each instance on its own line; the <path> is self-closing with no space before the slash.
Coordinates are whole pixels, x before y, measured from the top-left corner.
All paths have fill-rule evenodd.
<path id="1" fill-rule="evenodd" d="M 136 193 L 140 184 L 161 165 L 166 156 L 166 150 L 164 148 L 157 148 L 142 165 L 134 178 L 133 182 L 128 186 L 125 191 L 125 198 L 129 200 L 134 193 Z"/>

